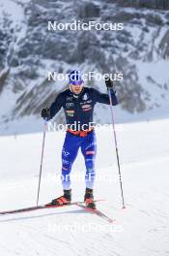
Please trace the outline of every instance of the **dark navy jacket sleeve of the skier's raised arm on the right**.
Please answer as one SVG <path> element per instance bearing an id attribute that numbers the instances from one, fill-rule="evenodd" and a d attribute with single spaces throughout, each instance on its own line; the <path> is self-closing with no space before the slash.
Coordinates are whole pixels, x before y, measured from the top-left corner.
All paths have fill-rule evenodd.
<path id="1" fill-rule="evenodd" d="M 110 89 L 110 92 L 113 106 L 118 105 L 118 100 L 115 91 L 113 89 Z M 110 104 L 108 93 L 101 93 L 96 89 L 94 89 L 94 99 L 96 103 L 99 102 L 107 105 Z"/>

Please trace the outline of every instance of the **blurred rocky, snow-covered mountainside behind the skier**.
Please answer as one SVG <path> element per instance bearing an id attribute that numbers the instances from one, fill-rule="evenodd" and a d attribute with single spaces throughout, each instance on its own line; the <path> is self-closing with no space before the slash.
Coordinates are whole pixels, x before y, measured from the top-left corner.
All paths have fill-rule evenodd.
<path id="1" fill-rule="evenodd" d="M 74 19 L 124 23 L 124 30 L 47 30 L 48 20 Z M 168 59 L 168 1 L 0 0 L 0 134 L 41 130 L 42 107 L 68 86 L 47 73 L 72 68 L 124 74 L 116 82 L 118 122 L 166 117 Z M 86 85 L 105 91 L 103 81 Z M 98 106 L 95 118 L 109 123 L 108 107 Z"/>

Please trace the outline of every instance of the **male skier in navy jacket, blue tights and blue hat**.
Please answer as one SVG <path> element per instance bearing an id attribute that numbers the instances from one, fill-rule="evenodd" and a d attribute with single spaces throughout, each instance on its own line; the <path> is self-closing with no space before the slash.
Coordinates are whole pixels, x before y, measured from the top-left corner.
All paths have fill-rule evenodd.
<path id="1" fill-rule="evenodd" d="M 63 108 L 68 127 L 62 149 L 62 185 L 64 195 L 52 200 L 50 204 L 56 206 L 70 204 L 70 171 L 77 156 L 78 149 L 81 148 L 86 166 L 84 202 L 87 208 L 96 208 L 93 188 L 96 176 L 95 159 L 97 142 L 93 125 L 93 112 L 98 102 L 107 105 L 110 104 L 109 97 L 108 94 L 100 93 L 95 88 L 84 87 L 82 75 L 79 71 L 72 71 L 69 77 L 70 88 L 61 92 L 49 109 L 42 109 L 42 118 L 50 120 Z M 117 105 L 118 101 L 113 85 L 106 83 L 106 86 L 109 86 L 111 91 L 112 104 L 114 106 Z"/>

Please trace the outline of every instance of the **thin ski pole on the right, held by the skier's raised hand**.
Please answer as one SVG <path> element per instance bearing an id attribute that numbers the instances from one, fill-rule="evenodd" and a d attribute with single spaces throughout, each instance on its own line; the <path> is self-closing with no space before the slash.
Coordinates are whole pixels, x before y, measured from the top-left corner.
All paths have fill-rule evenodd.
<path id="1" fill-rule="evenodd" d="M 123 205 L 123 208 L 126 208 L 126 207 L 125 207 L 125 200 L 124 200 L 124 191 L 123 191 L 123 184 L 122 184 L 122 176 L 121 176 L 121 166 L 120 166 L 120 160 L 119 160 L 119 150 L 118 150 L 117 136 L 116 136 L 116 130 L 115 130 L 115 118 L 114 118 L 113 103 L 112 103 L 110 88 L 108 88 L 108 96 L 109 96 L 110 109 L 111 109 L 111 115 L 112 115 L 113 133 L 114 133 L 114 141 L 115 141 L 115 147 L 116 147 L 116 156 L 117 156 L 117 163 L 118 163 L 118 171 L 119 171 L 119 181 L 120 181 L 120 187 L 121 187 L 121 195 L 122 195 L 122 205 Z"/>

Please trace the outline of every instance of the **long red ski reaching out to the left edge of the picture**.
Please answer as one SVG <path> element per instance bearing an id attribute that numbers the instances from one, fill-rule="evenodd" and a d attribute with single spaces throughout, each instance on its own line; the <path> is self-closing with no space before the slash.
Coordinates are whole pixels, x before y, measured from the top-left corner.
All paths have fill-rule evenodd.
<path id="1" fill-rule="evenodd" d="M 103 201 L 103 200 L 96 200 L 95 202 L 99 202 L 99 201 Z M 30 207 L 30 208 L 17 208 L 17 209 L 12 209 L 12 210 L 0 211 L 0 215 L 33 211 L 33 210 L 37 210 L 37 209 L 41 209 L 41 208 L 63 208 L 63 207 L 69 207 L 69 206 L 77 206 L 77 204 L 83 204 L 83 202 L 77 201 L 77 202 L 72 202 L 69 205 L 62 205 L 62 206 L 42 205 L 42 206 Z"/>

